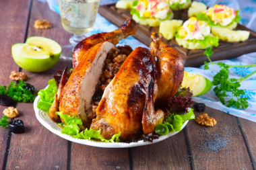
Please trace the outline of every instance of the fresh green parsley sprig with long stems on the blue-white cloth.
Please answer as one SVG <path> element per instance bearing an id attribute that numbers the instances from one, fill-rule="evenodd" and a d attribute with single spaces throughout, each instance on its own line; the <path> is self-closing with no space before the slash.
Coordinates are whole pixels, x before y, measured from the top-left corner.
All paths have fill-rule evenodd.
<path id="1" fill-rule="evenodd" d="M 230 67 L 256 67 L 255 65 L 226 65 L 224 62 L 212 62 L 210 56 L 213 54 L 212 47 L 206 48 L 205 52 L 203 52 L 209 60 L 209 62 L 205 62 L 204 69 L 209 69 L 209 65 L 218 65 L 221 69 L 219 73 L 214 75 L 214 79 L 212 81 L 214 87 L 214 93 L 220 99 L 222 104 L 226 105 L 228 108 L 234 105 L 235 108 L 238 109 L 246 109 L 248 108 L 247 97 L 243 97 L 245 95 L 245 90 L 238 89 L 241 87 L 241 82 L 256 73 L 247 75 L 246 77 L 241 77 L 241 79 L 229 78 L 229 68 Z M 231 93 L 231 99 L 226 101 L 225 97 L 228 97 L 227 93 Z"/>

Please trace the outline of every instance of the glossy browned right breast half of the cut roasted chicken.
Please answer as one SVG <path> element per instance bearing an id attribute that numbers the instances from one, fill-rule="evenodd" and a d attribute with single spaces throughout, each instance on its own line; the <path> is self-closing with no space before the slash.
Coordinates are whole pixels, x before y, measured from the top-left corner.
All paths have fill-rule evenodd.
<path id="1" fill-rule="evenodd" d="M 153 105 L 146 106 L 146 97 L 149 89 L 150 97 L 156 96 L 156 77 L 156 61 L 150 51 L 135 48 L 106 87 L 91 128 L 101 130 L 107 139 L 119 132 L 121 140 L 140 138 L 143 134 L 143 110 L 154 110 L 154 102 L 148 102 Z"/>

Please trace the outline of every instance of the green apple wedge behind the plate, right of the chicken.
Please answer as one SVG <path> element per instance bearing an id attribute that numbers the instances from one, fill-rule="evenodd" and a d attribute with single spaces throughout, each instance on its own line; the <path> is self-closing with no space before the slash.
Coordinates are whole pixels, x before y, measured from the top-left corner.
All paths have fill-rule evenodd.
<path id="1" fill-rule="evenodd" d="M 212 88 L 212 81 L 205 77 L 184 71 L 183 82 L 181 87 L 189 87 L 193 96 L 203 95 Z"/>

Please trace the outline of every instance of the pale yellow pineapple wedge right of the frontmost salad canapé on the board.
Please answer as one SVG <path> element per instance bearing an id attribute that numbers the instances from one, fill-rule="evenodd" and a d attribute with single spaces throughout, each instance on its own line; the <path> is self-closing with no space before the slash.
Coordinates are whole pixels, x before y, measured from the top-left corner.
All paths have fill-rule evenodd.
<path id="1" fill-rule="evenodd" d="M 212 26 L 212 34 L 218 36 L 220 40 L 227 42 L 241 42 L 248 40 L 250 32 L 242 30 L 230 30 L 220 26 Z"/>

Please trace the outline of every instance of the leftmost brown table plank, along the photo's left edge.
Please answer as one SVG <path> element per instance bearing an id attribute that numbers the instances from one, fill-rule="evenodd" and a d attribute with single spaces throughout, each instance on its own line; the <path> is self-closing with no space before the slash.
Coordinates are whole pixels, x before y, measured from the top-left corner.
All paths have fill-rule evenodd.
<path id="1" fill-rule="evenodd" d="M 24 41 L 29 7 L 30 1 L 16 1 L 14 4 L 12 1 L 0 1 L 0 85 L 9 85 L 11 71 L 18 71 L 17 65 L 11 58 L 11 45 Z M 0 105 L 0 118 L 5 108 L 7 107 Z M 9 129 L 0 127 L 0 167 L 3 167 L 5 154 L 8 153 L 8 151 L 5 153 L 8 135 Z"/>

